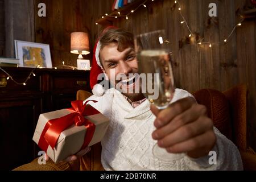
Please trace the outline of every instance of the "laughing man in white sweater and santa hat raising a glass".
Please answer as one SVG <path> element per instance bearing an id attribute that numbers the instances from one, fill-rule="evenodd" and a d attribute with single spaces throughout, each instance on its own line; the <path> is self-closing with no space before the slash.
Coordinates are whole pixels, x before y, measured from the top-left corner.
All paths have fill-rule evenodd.
<path id="1" fill-rule="evenodd" d="M 124 92 L 134 82 L 129 73 L 138 73 L 133 34 L 108 28 L 100 37 L 94 55 L 91 86 L 94 96 L 88 102 L 110 118 L 102 139 L 101 163 L 106 170 L 242 170 L 237 147 L 220 133 L 207 117 L 205 106 L 196 103 L 185 90 L 175 89 L 170 106 L 158 110 L 142 93 Z M 100 71 L 113 88 L 96 84 Z M 119 75 L 126 79 L 117 79 Z M 119 84 L 120 89 L 115 89 Z M 170 153 L 183 153 L 177 160 L 162 160 L 152 154 L 158 146 Z M 217 154 L 209 163 L 210 151 Z"/>

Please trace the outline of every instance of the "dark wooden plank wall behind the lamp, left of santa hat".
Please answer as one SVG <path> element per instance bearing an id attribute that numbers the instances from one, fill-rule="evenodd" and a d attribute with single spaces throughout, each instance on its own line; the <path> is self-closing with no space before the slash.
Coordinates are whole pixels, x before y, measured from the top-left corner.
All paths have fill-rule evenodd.
<path id="1" fill-rule="evenodd" d="M 112 1 L 112 0 L 111 0 Z M 88 32 L 90 35 L 90 54 L 85 59 L 92 60 L 94 40 L 100 27 L 93 23 L 98 14 L 110 11 L 111 1 L 88 0 L 34 0 L 35 10 L 35 40 L 49 44 L 51 47 L 52 65 L 61 67 L 62 61 L 66 65 L 77 66 L 77 56 L 70 53 L 70 34 L 75 31 Z M 38 4 L 45 3 L 46 17 L 39 17 Z M 98 6 L 101 5 L 101 6 Z"/>

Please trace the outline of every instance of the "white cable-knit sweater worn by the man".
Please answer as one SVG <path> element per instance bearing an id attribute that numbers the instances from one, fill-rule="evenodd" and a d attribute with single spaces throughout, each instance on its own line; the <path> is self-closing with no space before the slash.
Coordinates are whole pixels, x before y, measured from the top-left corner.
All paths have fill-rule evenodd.
<path id="1" fill-rule="evenodd" d="M 172 102 L 184 97 L 193 97 L 185 90 L 176 89 Z M 109 89 L 103 96 L 91 96 L 88 102 L 106 117 L 110 125 L 101 141 L 101 163 L 106 170 L 242 170 L 241 156 L 237 147 L 216 128 L 217 164 L 210 165 L 210 156 L 192 159 L 184 156 L 179 160 L 164 161 L 152 154 L 156 143 L 151 134 L 155 130 L 155 115 L 147 100 L 133 108 L 115 89 Z"/>

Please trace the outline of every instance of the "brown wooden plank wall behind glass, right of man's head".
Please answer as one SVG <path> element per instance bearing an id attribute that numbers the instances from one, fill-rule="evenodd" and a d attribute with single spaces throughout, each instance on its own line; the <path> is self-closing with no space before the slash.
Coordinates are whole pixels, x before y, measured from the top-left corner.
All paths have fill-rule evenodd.
<path id="1" fill-rule="evenodd" d="M 100 27 L 95 20 L 105 13 L 110 13 L 105 1 L 86 1 L 88 7 L 94 9 L 90 23 L 93 36 L 98 34 Z M 217 17 L 208 15 L 209 3 L 217 4 Z M 205 42 L 223 42 L 229 32 L 240 20 L 238 13 L 243 10 L 247 0 L 180 0 L 181 11 L 187 19 L 193 32 L 197 32 Z M 256 149 L 256 21 L 245 20 L 238 27 L 226 44 L 199 46 L 184 44 L 179 47 L 181 39 L 189 32 L 182 20 L 174 0 L 148 1 L 147 7 L 141 7 L 135 13 L 125 18 L 117 19 L 115 26 L 127 28 L 134 34 L 164 28 L 171 41 L 173 60 L 175 63 L 174 76 L 176 86 L 189 92 L 202 88 L 212 88 L 224 91 L 237 84 L 246 84 L 249 88 L 249 123 L 250 145 Z M 102 9 L 103 8 L 103 9 Z M 104 10 L 105 8 L 105 10 Z M 98 27 L 98 28 L 97 28 Z M 94 37 L 93 37 L 94 39 Z"/>

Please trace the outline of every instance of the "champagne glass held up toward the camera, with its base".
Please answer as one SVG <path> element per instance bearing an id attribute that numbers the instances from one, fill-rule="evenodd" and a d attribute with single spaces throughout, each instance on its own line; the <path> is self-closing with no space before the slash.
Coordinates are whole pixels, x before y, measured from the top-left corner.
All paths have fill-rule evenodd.
<path id="1" fill-rule="evenodd" d="M 170 44 L 166 32 L 157 30 L 137 35 L 134 43 L 139 73 L 154 75 L 147 77 L 146 82 L 142 81 L 142 93 L 158 109 L 166 109 L 175 92 Z M 154 87 L 155 92 L 149 92 L 148 86 Z M 171 154 L 157 143 L 153 147 L 153 155 L 162 160 L 177 160 L 184 156 Z"/>

